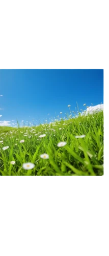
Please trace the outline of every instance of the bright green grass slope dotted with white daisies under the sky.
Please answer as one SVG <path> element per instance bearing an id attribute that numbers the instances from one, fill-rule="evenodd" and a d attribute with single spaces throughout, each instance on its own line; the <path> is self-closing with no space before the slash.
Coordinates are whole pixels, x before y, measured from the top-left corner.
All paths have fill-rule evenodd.
<path id="1" fill-rule="evenodd" d="M 103 176 L 103 119 L 100 111 L 37 127 L 0 126 L 0 176 Z"/>

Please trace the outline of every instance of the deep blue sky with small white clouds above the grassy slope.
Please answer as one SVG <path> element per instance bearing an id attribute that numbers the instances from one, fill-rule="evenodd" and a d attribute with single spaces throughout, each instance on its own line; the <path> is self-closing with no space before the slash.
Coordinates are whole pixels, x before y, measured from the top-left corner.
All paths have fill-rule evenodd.
<path id="1" fill-rule="evenodd" d="M 68 104 L 75 111 L 77 104 L 80 110 L 84 103 L 104 103 L 105 83 L 105 69 L 1 69 L 0 121 L 43 122 L 65 116 Z"/>

